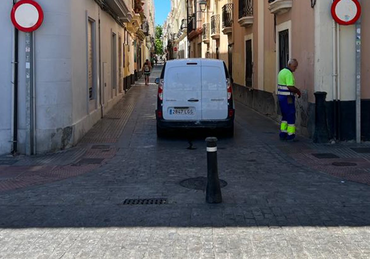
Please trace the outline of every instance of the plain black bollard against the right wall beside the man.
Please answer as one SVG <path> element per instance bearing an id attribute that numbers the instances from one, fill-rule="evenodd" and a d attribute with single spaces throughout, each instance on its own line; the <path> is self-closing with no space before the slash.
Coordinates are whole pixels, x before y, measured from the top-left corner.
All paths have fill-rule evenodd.
<path id="1" fill-rule="evenodd" d="M 314 143 L 326 143 L 329 141 L 329 130 L 327 128 L 326 92 L 315 92 L 315 132 Z"/>

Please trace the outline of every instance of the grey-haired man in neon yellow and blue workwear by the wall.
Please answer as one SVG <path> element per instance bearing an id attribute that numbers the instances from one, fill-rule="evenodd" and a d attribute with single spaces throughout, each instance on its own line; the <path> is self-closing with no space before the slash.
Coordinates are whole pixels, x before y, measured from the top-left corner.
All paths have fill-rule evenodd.
<path id="1" fill-rule="evenodd" d="M 301 97 L 301 92 L 295 87 L 293 72 L 298 67 L 298 61 L 291 58 L 286 68 L 277 75 L 277 98 L 279 99 L 282 121 L 280 125 L 280 139 L 289 142 L 296 137 L 296 107 L 295 95 Z"/>

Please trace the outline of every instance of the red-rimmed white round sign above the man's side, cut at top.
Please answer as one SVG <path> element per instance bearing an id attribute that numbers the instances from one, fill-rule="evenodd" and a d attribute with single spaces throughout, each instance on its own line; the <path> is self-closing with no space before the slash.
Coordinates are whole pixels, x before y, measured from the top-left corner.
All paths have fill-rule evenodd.
<path id="1" fill-rule="evenodd" d="M 332 4 L 333 19 L 339 24 L 354 24 L 360 15 L 361 5 L 357 0 L 335 0 Z"/>

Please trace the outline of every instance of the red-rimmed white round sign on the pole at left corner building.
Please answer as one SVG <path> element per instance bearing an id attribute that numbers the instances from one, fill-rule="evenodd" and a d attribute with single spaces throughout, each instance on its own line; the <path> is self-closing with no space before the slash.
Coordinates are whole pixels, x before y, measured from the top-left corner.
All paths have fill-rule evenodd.
<path id="1" fill-rule="evenodd" d="M 20 31 L 31 32 L 37 30 L 44 20 L 41 6 L 33 0 L 21 0 L 14 4 L 10 13 L 11 22 Z"/>

